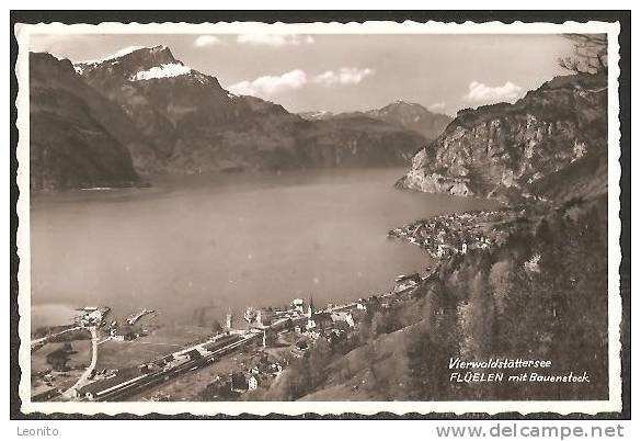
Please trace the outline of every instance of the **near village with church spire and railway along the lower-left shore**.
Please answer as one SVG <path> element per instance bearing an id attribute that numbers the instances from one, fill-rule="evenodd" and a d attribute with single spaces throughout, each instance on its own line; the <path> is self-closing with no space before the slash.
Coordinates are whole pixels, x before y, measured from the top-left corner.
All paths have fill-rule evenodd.
<path id="1" fill-rule="evenodd" d="M 72 325 L 32 341 L 32 353 L 36 354 L 47 344 L 57 344 L 46 353 L 46 368 L 32 372 L 32 399 L 173 400 L 178 398 L 165 386 L 204 368 L 210 369 L 211 375 L 196 394 L 198 399 L 243 399 L 243 394 L 267 388 L 291 360 L 304 358 L 319 340 L 332 347 L 343 344 L 367 314 L 410 297 L 435 273 L 428 269 L 424 276 L 401 274 L 389 292 L 346 304 L 317 307 L 310 295 L 308 299 L 295 298 L 286 307 L 248 307 L 239 319 L 228 312 L 224 326 L 215 325 L 207 335 L 135 365 L 129 363 L 137 354 L 128 354 L 154 344 L 148 338 L 158 331 L 152 325 L 156 312 L 142 309 L 118 324 L 107 320 L 108 307 L 84 307 Z M 105 355 L 110 344 L 116 353 L 115 364 L 123 365 L 101 368 L 96 362 L 99 352 Z M 89 365 L 79 361 L 81 355 L 91 359 Z"/>

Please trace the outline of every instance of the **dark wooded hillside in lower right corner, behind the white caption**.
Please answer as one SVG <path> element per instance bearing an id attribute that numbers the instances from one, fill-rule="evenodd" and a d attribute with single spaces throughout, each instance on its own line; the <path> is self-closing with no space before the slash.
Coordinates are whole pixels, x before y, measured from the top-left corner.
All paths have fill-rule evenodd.
<path id="1" fill-rule="evenodd" d="M 500 222 L 501 244 L 444 258 L 434 278 L 386 308 L 368 303 L 345 346 L 320 343 L 283 373 L 272 400 L 604 399 L 608 394 L 607 196 Z M 535 330 L 535 331 L 533 331 Z M 551 360 L 553 387 L 507 381 L 517 366 L 453 361 Z M 458 381 L 503 373 L 496 382 Z M 453 380 L 453 375 L 455 375 Z"/>

